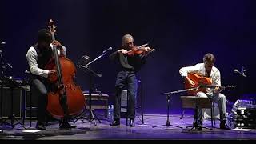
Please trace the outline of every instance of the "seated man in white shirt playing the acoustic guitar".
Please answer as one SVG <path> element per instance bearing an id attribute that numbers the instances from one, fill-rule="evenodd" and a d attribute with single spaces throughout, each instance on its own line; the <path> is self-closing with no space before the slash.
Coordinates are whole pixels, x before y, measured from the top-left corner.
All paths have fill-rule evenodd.
<path id="1" fill-rule="evenodd" d="M 194 73 L 201 75 L 206 78 L 210 78 L 214 88 L 206 88 L 206 91 L 198 91 L 196 94 L 198 97 L 208 97 L 212 102 L 218 103 L 219 113 L 220 113 L 220 128 L 228 130 L 226 126 L 226 96 L 221 94 L 221 74 L 220 71 L 214 66 L 215 58 L 213 54 L 205 54 L 203 57 L 203 63 L 198 63 L 194 66 L 182 67 L 179 70 L 182 78 L 190 84 L 191 87 L 195 85 L 189 77 L 188 73 Z M 202 109 L 198 110 L 198 123 L 196 122 L 196 128 L 202 130 Z"/>

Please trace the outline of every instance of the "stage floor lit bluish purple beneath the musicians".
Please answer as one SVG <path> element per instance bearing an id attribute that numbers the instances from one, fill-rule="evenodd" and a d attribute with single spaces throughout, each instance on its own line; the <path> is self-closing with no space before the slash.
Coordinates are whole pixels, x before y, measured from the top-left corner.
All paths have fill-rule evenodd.
<path id="1" fill-rule="evenodd" d="M 256 139 L 256 130 L 240 129 L 240 130 L 221 130 L 219 122 L 216 121 L 213 130 L 188 130 L 186 126 L 191 126 L 193 122 L 192 115 L 184 115 L 181 119 L 181 114 L 170 115 L 170 125 L 166 126 L 166 114 L 144 114 L 144 124 L 142 117 L 137 116 L 135 119 L 135 127 L 126 126 L 126 119 L 122 118 L 120 126 L 110 126 L 110 121 L 102 119 L 102 123 L 96 121 L 87 122 L 85 119 L 78 120 L 77 126 L 72 130 L 59 130 L 58 122 L 50 122 L 46 130 L 31 132 L 35 130 L 35 122 L 30 126 L 26 120 L 25 126 L 29 131 L 22 130 L 22 126 L 16 125 L 14 129 L 10 126 L 2 126 L 1 139 L 40 139 L 40 140 L 90 140 L 90 139 L 195 139 L 195 140 L 247 140 Z M 163 126 L 158 126 L 163 125 Z M 158 126 L 158 127 L 154 127 Z M 181 126 L 183 129 L 175 127 Z M 211 127 L 210 120 L 204 121 L 204 126 Z"/>

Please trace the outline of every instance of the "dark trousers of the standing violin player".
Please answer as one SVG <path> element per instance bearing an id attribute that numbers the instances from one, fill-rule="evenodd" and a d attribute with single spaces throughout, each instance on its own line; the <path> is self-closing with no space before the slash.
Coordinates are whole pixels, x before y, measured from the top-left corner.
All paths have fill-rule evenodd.
<path id="1" fill-rule="evenodd" d="M 124 88 L 127 88 L 129 102 L 128 102 L 128 118 L 135 118 L 135 100 L 137 95 L 137 78 L 134 71 L 122 70 L 117 75 L 115 83 L 116 93 L 114 98 L 114 119 L 120 119 L 121 111 L 121 94 Z"/>

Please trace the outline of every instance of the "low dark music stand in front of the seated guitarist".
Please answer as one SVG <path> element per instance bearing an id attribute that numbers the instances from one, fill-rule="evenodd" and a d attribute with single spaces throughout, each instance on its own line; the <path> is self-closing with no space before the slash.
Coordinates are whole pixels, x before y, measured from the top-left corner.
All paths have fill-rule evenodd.
<path id="1" fill-rule="evenodd" d="M 196 129 L 197 126 L 197 122 L 198 122 L 198 109 L 202 109 L 202 108 L 211 108 L 211 102 L 209 98 L 202 98 L 202 97 L 197 97 L 197 96 L 181 96 L 182 99 L 182 108 L 193 108 L 194 109 L 194 122 L 193 122 L 193 126 L 190 130 L 193 130 L 194 128 Z M 190 126 L 187 126 L 186 128 L 188 128 Z M 210 129 L 212 130 L 212 128 L 208 128 L 208 127 L 203 127 L 205 129 Z"/>

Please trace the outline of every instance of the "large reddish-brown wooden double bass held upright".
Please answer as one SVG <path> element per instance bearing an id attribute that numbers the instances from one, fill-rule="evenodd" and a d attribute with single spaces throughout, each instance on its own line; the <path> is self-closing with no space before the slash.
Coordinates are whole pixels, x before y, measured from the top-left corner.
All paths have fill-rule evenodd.
<path id="1" fill-rule="evenodd" d="M 50 34 L 55 40 L 55 26 L 50 19 Z M 56 70 L 57 74 L 50 74 L 48 82 L 54 86 L 48 92 L 47 110 L 54 118 L 67 118 L 81 114 L 86 105 L 82 90 L 74 83 L 76 68 L 74 63 L 64 57 L 58 56 L 57 47 L 53 48 L 54 57 L 46 65 L 46 70 Z"/>

